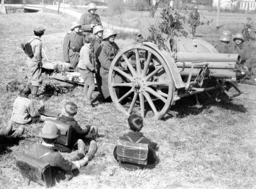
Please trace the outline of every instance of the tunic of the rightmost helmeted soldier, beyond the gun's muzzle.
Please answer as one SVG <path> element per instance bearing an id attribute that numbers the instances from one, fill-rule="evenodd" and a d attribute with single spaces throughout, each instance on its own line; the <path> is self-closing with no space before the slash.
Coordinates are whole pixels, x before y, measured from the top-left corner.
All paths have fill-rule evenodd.
<path id="1" fill-rule="evenodd" d="M 241 43 L 240 45 L 235 44 L 234 47 L 232 48 L 232 53 L 239 54 L 242 59 L 241 64 L 243 64 L 244 66 L 247 66 L 247 68 L 251 70 L 252 68 L 251 52 L 250 52 L 250 49 L 246 45 L 244 45 L 244 43 Z"/>

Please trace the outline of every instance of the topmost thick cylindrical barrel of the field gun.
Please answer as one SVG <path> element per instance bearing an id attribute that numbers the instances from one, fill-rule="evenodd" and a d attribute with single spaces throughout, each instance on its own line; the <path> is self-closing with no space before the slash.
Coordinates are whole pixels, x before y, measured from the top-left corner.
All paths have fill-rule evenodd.
<path id="1" fill-rule="evenodd" d="M 197 53 L 197 52 L 177 52 L 177 61 L 182 62 L 241 62 L 239 54 L 216 54 L 216 53 Z"/>

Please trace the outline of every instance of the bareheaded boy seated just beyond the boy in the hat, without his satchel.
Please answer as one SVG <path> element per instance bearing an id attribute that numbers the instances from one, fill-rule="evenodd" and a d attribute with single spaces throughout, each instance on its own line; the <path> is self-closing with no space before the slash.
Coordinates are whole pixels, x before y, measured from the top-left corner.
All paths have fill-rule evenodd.
<path id="1" fill-rule="evenodd" d="M 68 123 L 72 125 L 72 134 L 71 134 L 71 142 L 69 146 L 64 146 L 63 144 L 55 143 L 60 151 L 72 151 L 72 149 L 76 149 L 77 140 L 81 139 L 81 142 L 90 139 L 94 139 L 94 137 L 98 133 L 97 126 L 93 126 L 91 128 L 90 125 L 86 125 L 85 128 L 81 128 L 78 125 L 77 121 L 74 119 L 74 116 L 77 114 L 77 105 L 73 102 L 66 102 L 62 108 L 61 115 L 57 117 L 57 121 L 61 121 L 63 123 Z M 83 145 L 85 146 L 84 142 Z M 95 140 L 91 140 L 89 149 L 93 151 L 97 151 L 97 143 Z M 85 151 L 83 155 L 85 154 Z"/>

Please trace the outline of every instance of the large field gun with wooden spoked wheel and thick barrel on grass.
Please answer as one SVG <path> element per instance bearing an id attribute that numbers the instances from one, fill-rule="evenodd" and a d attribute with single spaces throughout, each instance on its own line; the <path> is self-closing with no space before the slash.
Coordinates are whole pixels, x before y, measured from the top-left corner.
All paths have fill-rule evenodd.
<path id="1" fill-rule="evenodd" d="M 142 117 L 152 110 L 154 118 L 160 119 L 185 96 L 195 95 L 197 100 L 197 94 L 202 93 L 214 99 L 220 93 L 228 98 L 242 93 L 233 84 L 246 75 L 236 69 L 241 61 L 238 54 L 219 54 L 204 40 L 182 36 L 175 39 L 175 50 L 171 50 L 170 42 L 166 47 L 168 50 L 160 50 L 154 43 L 137 43 L 116 55 L 109 69 L 108 86 L 118 110 L 127 115 L 140 112 Z M 134 56 L 128 59 L 127 52 Z M 120 64 L 126 71 L 120 69 Z M 115 82 L 116 74 L 125 82 Z M 230 87 L 234 87 L 235 94 L 228 92 Z"/>

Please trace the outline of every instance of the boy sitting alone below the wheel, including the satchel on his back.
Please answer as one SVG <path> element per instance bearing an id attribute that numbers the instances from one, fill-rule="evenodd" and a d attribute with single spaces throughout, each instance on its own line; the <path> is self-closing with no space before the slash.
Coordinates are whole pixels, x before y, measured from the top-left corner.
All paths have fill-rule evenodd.
<path id="1" fill-rule="evenodd" d="M 115 146 L 115 159 L 125 169 L 143 169 L 145 165 L 155 163 L 157 160 L 155 152 L 157 143 L 144 137 L 143 133 L 140 132 L 143 127 L 143 118 L 137 114 L 132 114 L 128 118 L 128 125 L 129 132 L 120 137 L 120 144 Z"/>

